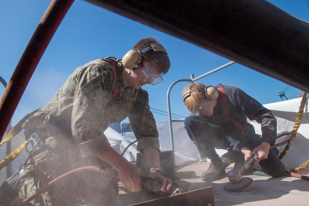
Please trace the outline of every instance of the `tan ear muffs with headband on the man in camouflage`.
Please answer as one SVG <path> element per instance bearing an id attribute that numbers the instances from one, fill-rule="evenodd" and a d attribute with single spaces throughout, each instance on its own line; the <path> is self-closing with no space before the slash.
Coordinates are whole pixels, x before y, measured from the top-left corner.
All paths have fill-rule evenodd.
<path id="1" fill-rule="evenodd" d="M 127 52 L 122 58 L 122 65 L 127 69 L 137 69 L 143 62 L 142 53 L 145 53 L 150 49 L 153 49 L 155 52 L 165 52 L 167 54 L 167 51 L 161 44 L 150 43 L 150 47 L 146 47 L 142 51 L 131 49 Z"/>

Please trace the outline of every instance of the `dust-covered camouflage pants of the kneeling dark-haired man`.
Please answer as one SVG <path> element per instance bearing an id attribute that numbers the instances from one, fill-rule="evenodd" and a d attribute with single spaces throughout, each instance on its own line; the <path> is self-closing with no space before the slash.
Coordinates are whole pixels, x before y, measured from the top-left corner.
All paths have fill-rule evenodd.
<path id="1" fill-rule="evenodd" d="M 96 156 L 81 157 L 77 143 L 71 136 L 70 132 L 61 132 L 48 137 L 43 140 L 44 144 L 48 145 L 46 149 L 38 150 L 31 155 L 25 164 L 25 172 L 32 179 L 26 180 L 20 188 L 20 200 L 24 200 L 60 175 L 79 167 L 97 166 L 112 170 L 112 166 Z M 117 195 L 118 182 L 116 178 L 96 171 L 84 171 L 56 183 L 46 192 L 38 195 L 28 205 L 113 205 Z"/>

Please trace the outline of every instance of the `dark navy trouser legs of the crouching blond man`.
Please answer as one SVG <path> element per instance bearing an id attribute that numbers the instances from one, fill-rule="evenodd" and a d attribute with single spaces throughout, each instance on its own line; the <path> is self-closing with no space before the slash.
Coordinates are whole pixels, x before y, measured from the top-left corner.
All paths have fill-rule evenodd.
<path id="1" fill-rule="evenodd" d="M 227 137 L 229 137 L 229 129 L 226 127 L 225 123 L 217 122 L 211 124 L 208 119 L 199 115 L 188 116 L 184 120 L 184 126 L 188 136 L 196 145 L 202 159 L 209 158 L 211 161 L 218 159 L 218 154 L 215 149 L 232 149 L 230 145 L 231 142 L 227 139 Z M 235 135 L 235 131 L 233 131 L 233 134 Z M 252 151 L 260 144 L 261 143 L 256 140 L 251 140 L 244 145 Z M 239 162 L 244 161 L 244 154 L 235 151 L 232 160 L 235 162 L 236 166 Z M 285 166 L 272 150 L 269 150 L 267 159 L 261 160 L 256 169 L 272 177 L 280 177 L 285 173 Z"/>

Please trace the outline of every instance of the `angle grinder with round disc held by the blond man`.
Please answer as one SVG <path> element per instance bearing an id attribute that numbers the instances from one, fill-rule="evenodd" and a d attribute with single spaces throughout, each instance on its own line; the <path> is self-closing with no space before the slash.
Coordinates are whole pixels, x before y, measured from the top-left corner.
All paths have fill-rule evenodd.
<path id="1" fill-rule="evenodd" d="M 258 155 L 258 153 L 254 153 L 250 159 L 240 162 L 236 167 L 234 167 L 234 169 L 228 171 L 227 177 L 230 182 L 226 183 L 223 189 L 232 192 L 248 187 L 253 182 L 253 179 L 249 177 L 242 177 L 241 173 L 250 168 L 254 162 L 254 158 Z"/>

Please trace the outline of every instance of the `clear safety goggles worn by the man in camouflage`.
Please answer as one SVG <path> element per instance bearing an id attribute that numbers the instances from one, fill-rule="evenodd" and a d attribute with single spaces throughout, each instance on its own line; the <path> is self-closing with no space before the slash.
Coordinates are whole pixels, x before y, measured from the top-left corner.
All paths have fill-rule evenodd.
<path id="1" fill-rule="evenodd" d="M 158 72 L 148 63 L 141 65 L 139 73 L 141 74 L 144 82 L 150 82 L 151 85 L 156 85 L 163 81 L 161 74 L 158 74 Z"/>

